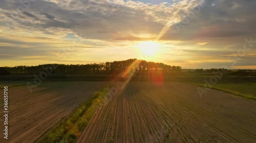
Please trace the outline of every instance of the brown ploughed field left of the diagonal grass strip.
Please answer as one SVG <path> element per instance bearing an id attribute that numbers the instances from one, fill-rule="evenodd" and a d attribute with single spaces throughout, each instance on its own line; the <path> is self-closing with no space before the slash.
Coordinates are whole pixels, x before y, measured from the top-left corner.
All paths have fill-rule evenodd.
<path id="1" fill-rule="evenodd" d="M 47 82 L 32 93 L 27 86 L 9 88 L 9 134 L 8 140 L 4 139 L 4 123 L 1 122 L 0 142 L 33 142 L 86 101 L 102 83 Z M 0 92 L 3 95 L 3 89 Z M 3 102 L 0 105 L 3 111 Z M 1 115 L 3 117 L 3 113 Z"/>

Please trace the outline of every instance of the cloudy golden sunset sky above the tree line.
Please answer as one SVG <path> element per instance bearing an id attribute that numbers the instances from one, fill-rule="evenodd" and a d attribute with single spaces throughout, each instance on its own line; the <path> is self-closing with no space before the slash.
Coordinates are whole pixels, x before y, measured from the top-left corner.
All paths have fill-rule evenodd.
<path id="1" fill-rule="evenodd" d="M 183 69 L 256 69 L 255 6 L 254 0 L 1 0 L 0 66 L 137 58 Z M 141 45 L 158 47 L 145 55 Z"/>

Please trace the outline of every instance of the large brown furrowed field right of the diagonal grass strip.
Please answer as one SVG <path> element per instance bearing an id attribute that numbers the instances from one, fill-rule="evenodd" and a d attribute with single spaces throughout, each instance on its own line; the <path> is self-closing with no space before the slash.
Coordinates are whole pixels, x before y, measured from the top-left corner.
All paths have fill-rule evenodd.
<path id="1" fill-rule="evenodd" d="M 77 142 L 256 142 L 256 101 L 186 83 L 130 82 Z"/>

